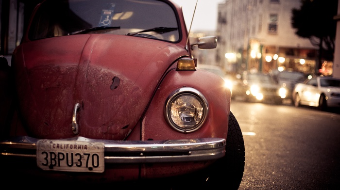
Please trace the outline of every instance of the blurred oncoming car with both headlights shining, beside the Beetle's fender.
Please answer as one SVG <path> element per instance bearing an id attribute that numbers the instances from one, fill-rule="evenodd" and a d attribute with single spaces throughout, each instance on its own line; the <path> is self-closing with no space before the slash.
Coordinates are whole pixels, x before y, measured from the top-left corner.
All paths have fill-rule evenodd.
<path id="1" fill-rule="evenodd" d="M 269 74 L 244 72 L 233 96 L 247 101 L 273 102 L 282 104 L 286 89 L 278 85 Z"/>

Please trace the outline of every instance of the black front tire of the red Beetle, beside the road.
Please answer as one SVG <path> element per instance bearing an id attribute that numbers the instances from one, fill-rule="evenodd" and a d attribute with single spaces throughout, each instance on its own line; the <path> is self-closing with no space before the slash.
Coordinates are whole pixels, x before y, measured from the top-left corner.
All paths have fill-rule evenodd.
<path id="1" fill-rule="evenodd" d="M 206 169 L 171 180 L 171 190 L 238 190 L 245 163 L 245 148 L 241 129 L 230 112 L 225 156 Z"/>

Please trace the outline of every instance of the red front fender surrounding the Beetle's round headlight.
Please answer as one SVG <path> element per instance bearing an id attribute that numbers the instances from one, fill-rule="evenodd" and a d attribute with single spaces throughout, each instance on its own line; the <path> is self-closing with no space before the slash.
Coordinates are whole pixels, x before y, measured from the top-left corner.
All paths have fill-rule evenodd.
<path id="1" fill-rule="evenodd" d="M 212 85 L 214 84 L 214 85 Z M 164 116 L 168 96 L 182 87 L 191 87 L 201 92 L 209 106 L 204 125 L 192 133 L 182 133 L 170 127 Z M 169 71 L 155 93 L 142 120 L 142 140 L 186 139 L 199 137 L 226 138 L 231 93 L 221 77 L 200 70 Z M 157 130 L 155 130 L 157 129 Z"/>

